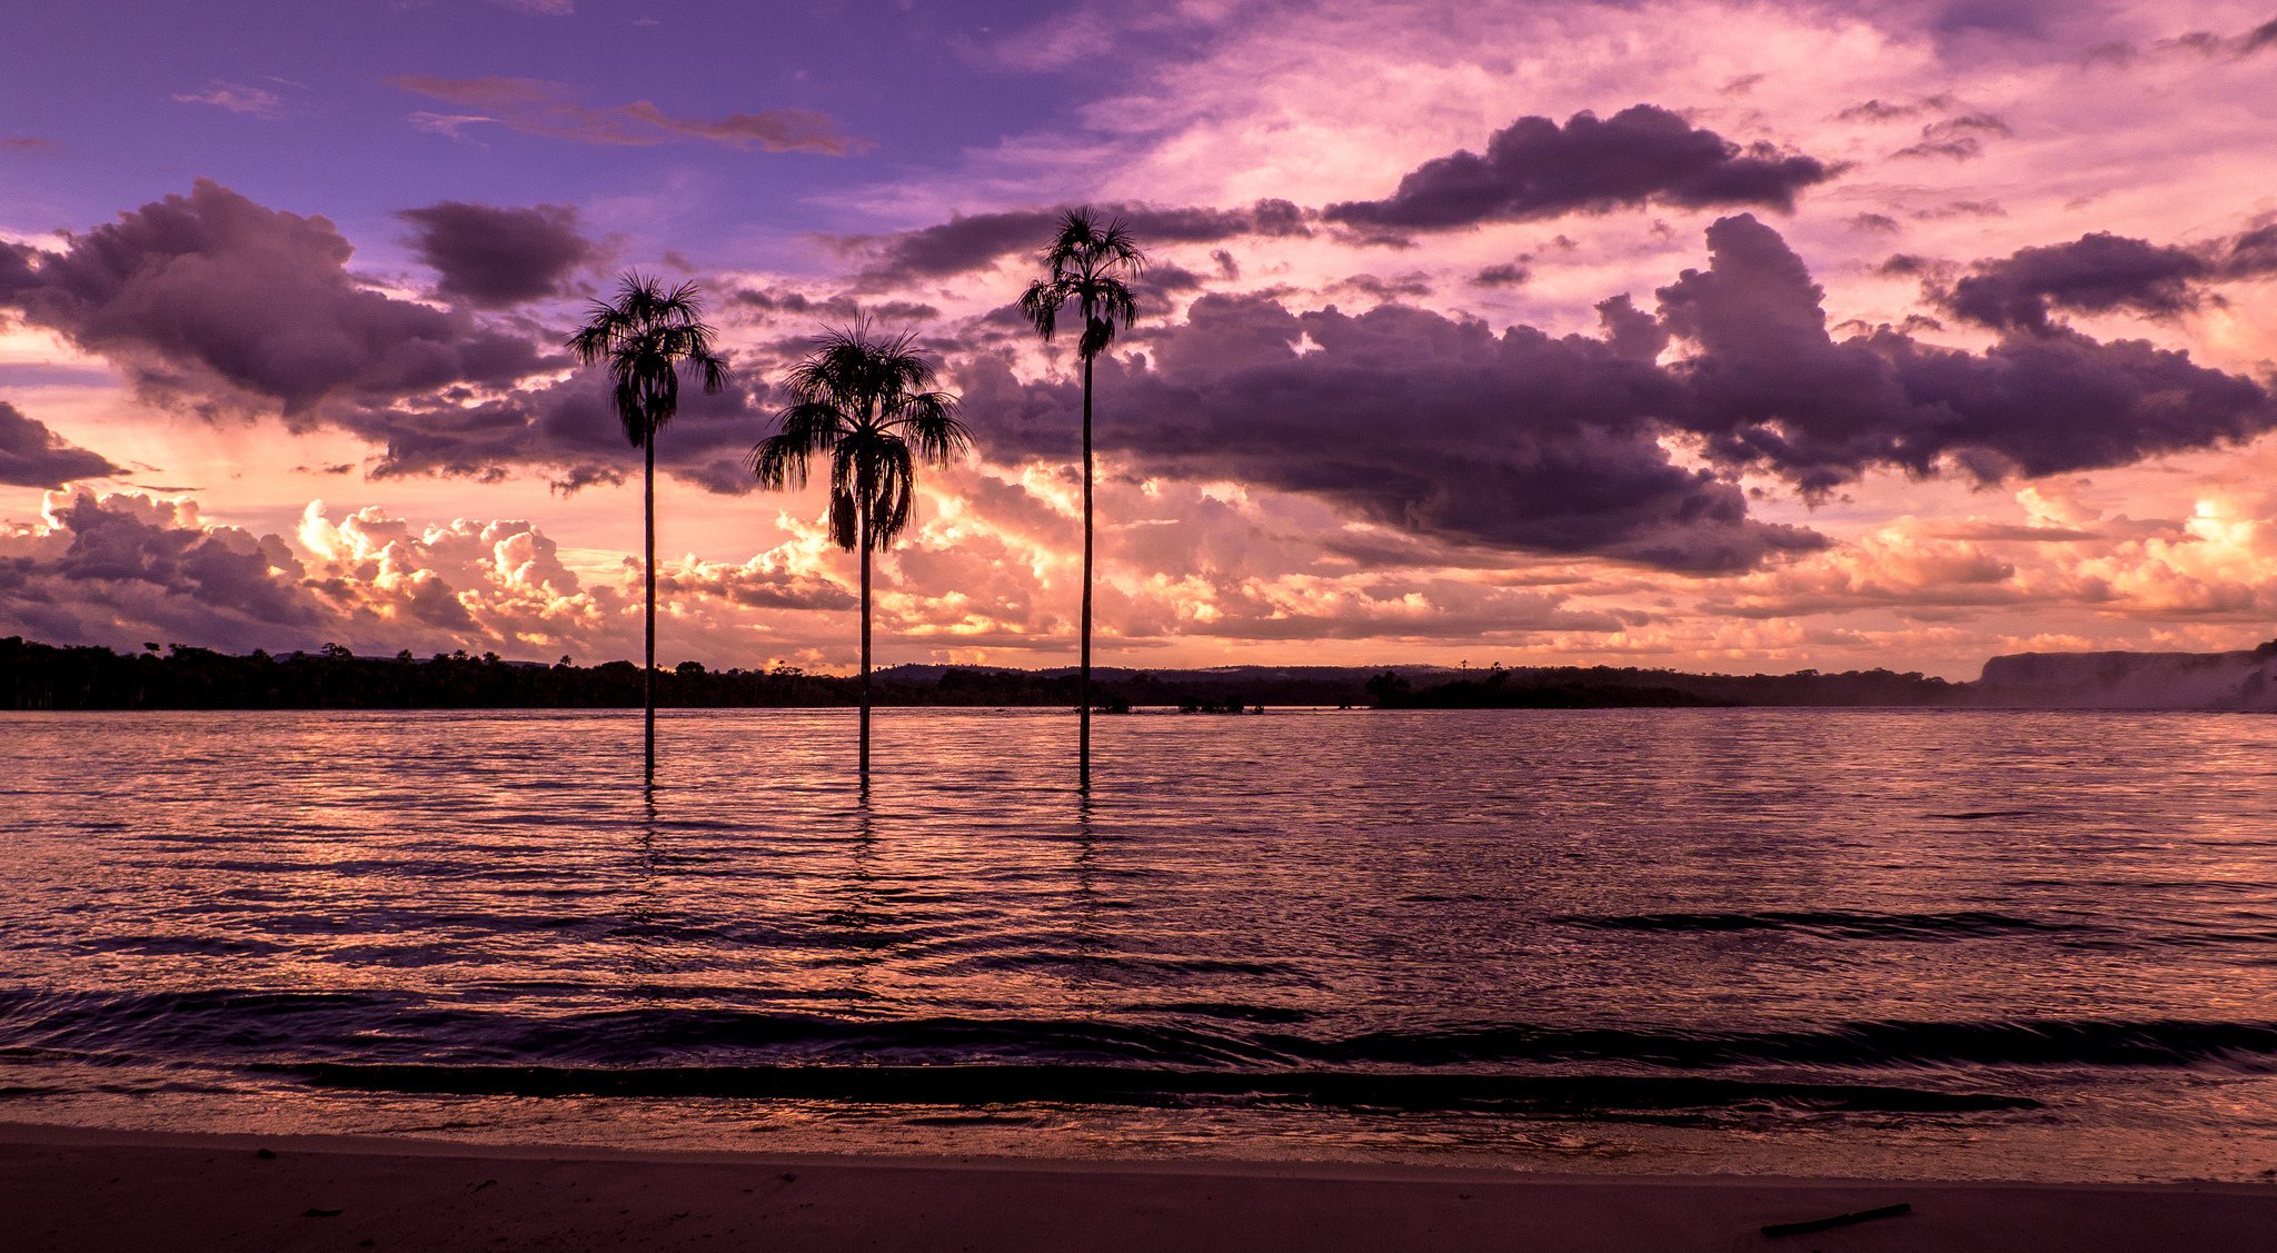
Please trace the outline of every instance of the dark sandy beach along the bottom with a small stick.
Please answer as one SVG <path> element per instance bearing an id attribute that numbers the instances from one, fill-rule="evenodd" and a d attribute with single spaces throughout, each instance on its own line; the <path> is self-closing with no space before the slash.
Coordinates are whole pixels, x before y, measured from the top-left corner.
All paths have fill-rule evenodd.
<path id="1" fill-rule="evenodd" d="M 2277 1187 L 615 1153 L 0 1128 L 46 1251 L 2266 1251 Z M 1842 1228 L 1765 1235 L 1906 1203 Z"/>

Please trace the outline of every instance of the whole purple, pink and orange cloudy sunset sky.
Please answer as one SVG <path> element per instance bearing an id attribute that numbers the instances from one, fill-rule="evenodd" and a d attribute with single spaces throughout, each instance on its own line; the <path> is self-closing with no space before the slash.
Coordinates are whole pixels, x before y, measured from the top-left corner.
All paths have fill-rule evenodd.
<path id="1" fill-rule="evenodd" d="M 2227 2 L 342 0 L 9 16 L 0 636 L 640 649 L 640 460 L 562 339 L 628 269 L 733 362 L 658 437 L 658 658 L 854 663 L 824 328 L 977 453 L 881 663 L 1068 665 L 1054 216 L 1107 665 L 1954 679 L 2277 615 L 2277 9 Z"/>

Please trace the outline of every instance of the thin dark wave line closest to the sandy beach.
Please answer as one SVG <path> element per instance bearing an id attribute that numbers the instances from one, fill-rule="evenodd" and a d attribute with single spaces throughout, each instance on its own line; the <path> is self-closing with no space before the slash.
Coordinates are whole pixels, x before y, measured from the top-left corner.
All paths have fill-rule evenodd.
<path id="1" fill-rule="evenodd" d="M 2022 1096 L 1890 1084 L 1671 1075 L 1184 1071 L 1143 1066 L 428 1066 L 282 1064 L 266 1071 L 362 1091 L 449 1096 L 679 1096 L 890 1105 L 1307 1105 L 1382 1112 L 1621 1114 L 1824 1109 L 1965 1114 L 2036 1109 Z"/>

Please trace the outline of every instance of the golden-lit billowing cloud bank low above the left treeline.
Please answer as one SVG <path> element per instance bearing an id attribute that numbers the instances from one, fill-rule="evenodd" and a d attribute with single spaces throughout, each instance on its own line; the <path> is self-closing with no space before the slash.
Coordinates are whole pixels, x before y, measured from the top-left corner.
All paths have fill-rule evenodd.
<path id="1" fill-rule="evenodd" d="M 660 563 L 674 647 L 747 661 L 763 611 L 840 611 L 849 592 L 799 554 Z M 469 652 L 626 656 L 640 638 L 640 572 L 585 583 L 528 522 L 412 524 L 312 501 L 291 535 L 207 519 L 187 499 L 50 492 L 39 524 L 0 526 L 0 633 L 134 647 L 248 652 Z"/>

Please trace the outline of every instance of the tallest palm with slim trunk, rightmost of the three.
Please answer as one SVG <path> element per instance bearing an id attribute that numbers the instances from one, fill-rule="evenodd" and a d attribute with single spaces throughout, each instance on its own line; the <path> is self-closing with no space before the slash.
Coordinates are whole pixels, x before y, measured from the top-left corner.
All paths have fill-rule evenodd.
<path id="1" fill-rule="evenodd" d="M 1123 219 L 1100 226 L 1088 207 L 1068 210 L 1059 219 L 1059 235 L 1043 248 L 1043 264 L 1050 278 L 1038 278 L 1020 294 L 1020 312 L 1036 324 L 1043 342 L 1052 342 L 1059 328 L 1059 310 L 1075 303 L 1075 314 L 1084 319 L 1084 335 L 1075 342 L 1075 353 L 1084 358 L 1084 647 L 1082 686 L 1077 688 L 1077 788 L 1091 791 L 1091 362 L 1116 342 L 1118 328 L 1129 328 L 1138 317 L 1138 301 L 1132 296 L 1127 278 L 1138 278 L 1145 269 L 1145 253 L 1123 228 Z"/>

